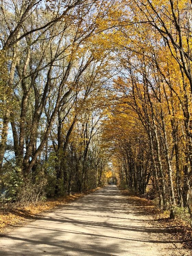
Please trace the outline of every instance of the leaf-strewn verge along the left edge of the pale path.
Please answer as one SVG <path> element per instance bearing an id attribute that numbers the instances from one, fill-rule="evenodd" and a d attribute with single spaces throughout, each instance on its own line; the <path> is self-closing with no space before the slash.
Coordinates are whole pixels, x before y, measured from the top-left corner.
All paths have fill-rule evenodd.
<path id="1" fill-rule="evenodd" d="M 22 224 L 28 219 L 38 218 L 40 213 L 57 207 L 62 207 L 66 203 L 70 203 L 77 198 L 94 192 L 95 190 L 96 189 L 92 189 L 85 193 L 75 193 L 69 196 L 66 195 L 55 199 L 47 199 L 35 204 L 30 203 L 27 206 L 20 205 L 19 203 L 3 205 L 0 207 L 0 235 L 10 231 L 12 228 Z"/>

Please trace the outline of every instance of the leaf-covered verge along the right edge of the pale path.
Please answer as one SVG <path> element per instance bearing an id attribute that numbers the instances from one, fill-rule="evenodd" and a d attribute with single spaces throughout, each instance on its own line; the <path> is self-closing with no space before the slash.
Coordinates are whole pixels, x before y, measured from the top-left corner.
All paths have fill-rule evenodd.
<path id="1" fill-rule="evenodd" d="M 192 249 L 192 229 L 187 222 L 179 218 L 170 219 L 169 213 L 160 212 L 151 200 L 148 203 L 147 199 L 134 196 L 128 190 L 121 189 L 121 192 L 140 214 L 152 216 L 154 225 L 166 228 L 173 240 L 180 241 L 183 247 Z"/>

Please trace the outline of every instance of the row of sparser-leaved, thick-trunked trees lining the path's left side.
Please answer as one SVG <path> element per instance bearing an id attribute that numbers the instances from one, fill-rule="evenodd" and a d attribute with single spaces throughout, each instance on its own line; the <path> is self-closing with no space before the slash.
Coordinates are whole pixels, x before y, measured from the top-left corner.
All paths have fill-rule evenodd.
<path id="1" fill-rule="evenodd" d="M 104 185 L 110 60 L 94 37 L 104 3 L 8 0 L 0 11 L 2 196 L 34 201 Z"/>

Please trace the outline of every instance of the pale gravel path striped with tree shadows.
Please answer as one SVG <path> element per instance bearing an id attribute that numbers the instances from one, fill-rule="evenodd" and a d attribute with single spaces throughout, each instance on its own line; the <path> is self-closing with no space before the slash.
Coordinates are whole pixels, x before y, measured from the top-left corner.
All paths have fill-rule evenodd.
<path id="1" fill-rule="evenodd" d="M 184 255 L 148 218 L 109 185 L 1 237 L 0 255 Z"/>

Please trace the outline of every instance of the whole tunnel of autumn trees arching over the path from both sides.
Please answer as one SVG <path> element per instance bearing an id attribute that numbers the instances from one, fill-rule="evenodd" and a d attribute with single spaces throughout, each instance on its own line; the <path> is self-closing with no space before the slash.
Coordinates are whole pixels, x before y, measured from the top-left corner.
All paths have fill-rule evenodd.
<path id="1" fill-rule="evenodd" d="M 190 1 L 3 0 L 0 201 L 150 183 L 192 219 Z M 150 191 L 149 191 L 150 192 Z"/>

